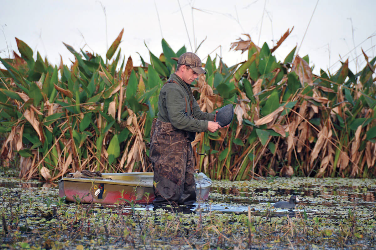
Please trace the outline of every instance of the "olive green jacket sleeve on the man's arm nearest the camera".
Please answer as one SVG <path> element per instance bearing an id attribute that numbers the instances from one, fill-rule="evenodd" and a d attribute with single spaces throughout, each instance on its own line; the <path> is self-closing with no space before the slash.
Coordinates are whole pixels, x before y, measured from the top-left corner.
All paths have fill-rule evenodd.
<path id="1" fill-rule="evenodd" d="M 168 83 L 164 85 L 161 91 L 167 108 L 168 119 L 172 126 L 190 132 L 204 132 L 208 130 L 208 121 L 197 120 L 185 114 L 186 103 L 184 92 L 179 85 Z M 190 109 L 189 102 L 188 109 Z"/>

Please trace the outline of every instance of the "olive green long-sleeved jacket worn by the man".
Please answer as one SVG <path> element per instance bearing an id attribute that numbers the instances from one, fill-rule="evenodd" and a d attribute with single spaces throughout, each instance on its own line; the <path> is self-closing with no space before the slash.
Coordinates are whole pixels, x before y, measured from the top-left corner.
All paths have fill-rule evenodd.
<path id="1" fill-rule="evenodd" d="M 170 79 L 177 84 L 169 82 L 162 87 L 158 100 L 158 119 L 171 123 L 172 126 L 180 130 L 208 131 L 208 121 L 214 120 L 214 114 L 200 110 L 190 85 L 186 84 L 183 79 L 174 73 L 171 74 Z M 192 101 L 193 117 L 191 117 L 190 101 Z M 185 113 L 186 106 L 187 112 Z"/>

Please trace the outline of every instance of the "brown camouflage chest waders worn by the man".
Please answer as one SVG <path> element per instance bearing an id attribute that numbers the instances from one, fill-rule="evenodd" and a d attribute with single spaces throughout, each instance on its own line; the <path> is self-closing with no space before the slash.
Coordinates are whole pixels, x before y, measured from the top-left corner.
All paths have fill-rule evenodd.
<path id="1" fill-rule="evenodd" d="M 196 201 L 193 149 L 188 133 L 171 123 L 153 120 L 150 160 L 154 168 L 153 204 L 191 205 Z"/>

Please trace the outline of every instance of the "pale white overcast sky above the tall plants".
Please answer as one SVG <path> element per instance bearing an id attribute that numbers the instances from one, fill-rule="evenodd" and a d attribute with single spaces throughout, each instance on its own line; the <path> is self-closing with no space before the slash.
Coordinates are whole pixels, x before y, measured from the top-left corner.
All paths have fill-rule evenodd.
<path id="1" fill-rule="evenodd" d="M 212 58 L 221 55 L 224 63 L 231 66 L 247 57 L 246 53 L 229 51 L 231 42 L 239 37 L 247 39 L 242 33 L 250 34 L 259 46 L 267 42 L 271 48 L 294 26 L 274 52 L 277 60 L 283 61 L 294 46 L 301 45 L 299 55 L 309 54 L 310 66 L 315 64 L 314 73 L 319 68 L 335 73 L 340 68 L 340 57 L 343 61 L 349 58 L 350 69 L 355 73 L 364 67 L 361 48 L 370 59 L 376 55 L 376 1 L 319 0 L 307 29 L 316 3 L 317 0 L 0 0 L 0 57 L 9 57 L 8 50 L 11 57 L 13 50 L 18 52 L 14 39 L 17 37 L 33 49 L 34 57 L 38 50 L 53 64 L 59 64 L 60 55 L 64 64 L 70 65 L 69 60 L 74 59 L 62 42 L 77 51 L 83 48 L 105 58 L 107 46 L 124 28 L 121 55 L 131 55 L 133 65 L 139 66 L 141 60 L 136 52 L 150 61 L 144 42 L 153 54 L 161 54 L 162 34 L 174 51 L 183 45 L 192 51 L 187 28 L 193 51 L 206 37 L 197 51 L 203 62 L 211 53 Z"/>

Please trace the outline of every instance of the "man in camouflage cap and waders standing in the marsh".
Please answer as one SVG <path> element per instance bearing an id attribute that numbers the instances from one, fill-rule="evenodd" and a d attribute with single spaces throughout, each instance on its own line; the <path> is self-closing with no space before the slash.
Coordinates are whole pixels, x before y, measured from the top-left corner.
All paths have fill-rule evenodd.
<path id="1" fill-rule="evenodd" d="M 190 84 L 201 73 L 206 71 L 200 58 L 186 52 L 159 93 L 149 154 L 154 168 L 155 205 L 191 205 L 196 201 L 191 142 L 196 132 L 214 133 L 221 128 L 215 122 L 216 114 L 202 112 L 193 97 Z"/>

